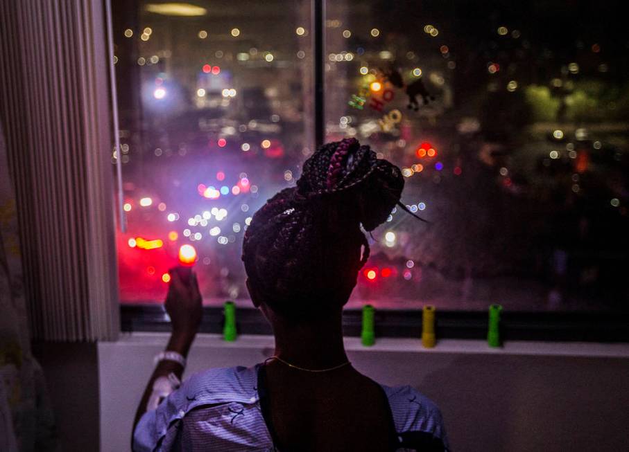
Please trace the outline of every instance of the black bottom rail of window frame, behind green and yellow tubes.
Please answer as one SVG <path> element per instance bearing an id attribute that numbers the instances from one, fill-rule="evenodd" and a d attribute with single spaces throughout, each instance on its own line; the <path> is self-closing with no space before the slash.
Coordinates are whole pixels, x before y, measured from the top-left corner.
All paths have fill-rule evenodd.
<path id="1" fill-rule="evenodd" d="M 361 335 L 362 314 L 359 309 L 343 311 L 343 334 Z M 204 307 L 202 333 L 220 334 L 223 309 Z M 378 338 L 421 336 L 422 311 L 419 309 L 376 309 L 375 333 Z M 488 314 L 485 311 L 438 311 L 437 337 L 472 339 L 485 343 Z M 270 335 L 270 325 L 257 309 L 238 309 L 236 328 L 239 334 Z M 121 305 L 123 332 L 169 332 L 171 325 L 162 305 Z M 594 312 L 514 312 L 501 316 L 501 337 L 512 341 L 550 341 L 583 343 L 629 343 L 629 314 Z"/>

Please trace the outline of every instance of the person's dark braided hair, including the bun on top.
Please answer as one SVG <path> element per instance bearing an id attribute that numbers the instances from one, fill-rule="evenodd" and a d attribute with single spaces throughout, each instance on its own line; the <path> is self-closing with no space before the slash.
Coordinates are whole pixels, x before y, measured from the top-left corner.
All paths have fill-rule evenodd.
<path id="1" fill-rule="evenodd" d="M 343 306 L 370 253 L 360 226 L 383 223 L 402 188 L 399 168 L 355 138 L 322 145 L 297 186 L 253 215 L 242 255 L 250 285 L 289 318 Z"/>

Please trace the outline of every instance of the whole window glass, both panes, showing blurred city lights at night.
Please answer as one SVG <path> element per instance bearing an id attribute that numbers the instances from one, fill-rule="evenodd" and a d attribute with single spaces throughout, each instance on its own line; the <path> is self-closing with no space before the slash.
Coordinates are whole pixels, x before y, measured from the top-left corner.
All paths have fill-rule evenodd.
<path id="1" fill-rule="evenodd" d="M 629 41 L 619 3 L 114 2 L 121 300 L 161 302 L 180 244 L 208 305 L 247 296 L 249 218 L 325 137 L 403 169 L 349 307 L 621 311 Z M 112 156 L 117 163 L 118 156 Z"/>

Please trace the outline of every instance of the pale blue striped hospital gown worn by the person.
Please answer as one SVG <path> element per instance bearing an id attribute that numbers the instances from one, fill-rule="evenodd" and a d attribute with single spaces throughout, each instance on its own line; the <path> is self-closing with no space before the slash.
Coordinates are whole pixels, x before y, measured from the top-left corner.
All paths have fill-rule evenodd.
<path id="1" fill-rule="evenodd" d="M 194 374 L 144 413 L 133 435 L 133 451 L 267 452 L 273 428 L 261 408 L 259 370 L 216 368 Z M 397 432 L 397 451 L 449 451 L 439 408 L 411 386 L 381 385 Z"/>

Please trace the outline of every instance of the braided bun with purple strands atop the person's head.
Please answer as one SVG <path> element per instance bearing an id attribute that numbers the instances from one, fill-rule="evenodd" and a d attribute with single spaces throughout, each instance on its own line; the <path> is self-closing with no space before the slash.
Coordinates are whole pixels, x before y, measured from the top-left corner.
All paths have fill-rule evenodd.
<path id="1" fill-rule="evenodd" d="M 298 196 L 317 208 L 338 210 L 350 221 L 373 230 L 386 221 L 404 188 L 397 166 L 377 159 L 356 138 L 322 145 L 305 163 Z"/>

